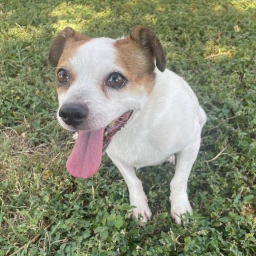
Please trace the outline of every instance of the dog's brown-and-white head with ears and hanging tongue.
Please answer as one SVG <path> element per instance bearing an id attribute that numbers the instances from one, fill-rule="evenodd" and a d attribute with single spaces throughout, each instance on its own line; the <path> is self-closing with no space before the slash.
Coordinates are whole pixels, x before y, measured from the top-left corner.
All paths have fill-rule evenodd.
<path id="1" fill-rule="evenodd" d="M 165 70 L 158 38 L 141 26 L 121 39 L 90 38 L 65 28 L 53 41 L 49 62 L 57 70 L 58 120 L 65 129 L 78 131 L 73 153 L 94 147 L 94 156 L 100 155 L 100 159 L 99 151 L 107 147 L 132 112 L 145 105 L 154 87 L 155 68 Z M 68 163 L 78 161 L 72 159 Z M 85 168 L 82 163 L 81 168 Z M 95 169 L 92 165 L 88 168 Z M 94 172 L 71 174 L 90 177 Z"/>

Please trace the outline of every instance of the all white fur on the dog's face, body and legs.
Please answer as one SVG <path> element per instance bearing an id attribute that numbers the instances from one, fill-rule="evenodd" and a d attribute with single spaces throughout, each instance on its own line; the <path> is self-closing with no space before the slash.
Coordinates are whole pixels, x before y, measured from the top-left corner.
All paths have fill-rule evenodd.
<path id="1" fill-rule="evenodd" d="M 77 79 L 59 95 L 60 107 L 74 101 L 86 103 L 90 115 L 84 130 L 105 127 L 125 111 L 133 109 L 129 122 L 114 135 L 107 148 L 107 154 L 127 183 L 130 204 L 136 206 L 132 216 L 138 218 L 141 214 L 144 222 L 151 217 L 147 196 L 135 168 L 165 161 L 175 163 L 176 154 L 170 202 L 172 217 L 181 223 L 183 214 L 192 213 L 187 182 L 198 154 L 206 115 L 190 86 L 167 69 L 163 73 L 155 69 L 156 81 L 149 95 L 146 90 L 132 93 L 107 87 L 107 98 L 102 92 L 102 83 L 110 73 L 124 72 L 116 62 L 113 42 L 109 38 L 92 39 L 80 46 L 74 58 L 68 60 L 67 66 L 75 72 Z M 61 119 L 60 123 L 72 130 Z"/>

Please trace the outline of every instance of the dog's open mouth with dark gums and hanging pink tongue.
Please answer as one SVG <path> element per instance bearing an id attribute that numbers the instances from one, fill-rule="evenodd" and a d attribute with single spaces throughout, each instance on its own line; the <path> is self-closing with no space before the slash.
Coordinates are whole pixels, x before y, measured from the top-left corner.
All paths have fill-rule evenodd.
<path id="1" fill-rule="evenodd" d="M 78 138 L 67 161 L 68 172 L 77 178 L 89 178 L 97 172 L 101 156 L 111 141 L 129 121 L 132 111 L 125 112 L 106 127 L 96 131 L 78 131 Z"/>

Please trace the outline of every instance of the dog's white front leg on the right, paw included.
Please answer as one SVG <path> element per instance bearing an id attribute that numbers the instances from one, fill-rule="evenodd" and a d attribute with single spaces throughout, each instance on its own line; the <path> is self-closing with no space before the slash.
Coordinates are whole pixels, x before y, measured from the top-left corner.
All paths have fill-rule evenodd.
<path id="1" fill-rule="evenodd" d="M 193 210 L 188 201 L 187 183 L 191 168 L 196 160 L 199 147 L 199 138 L 177 154 L 177 165 L 174 177 L 170 183 L 171 215 L 178 224 L 182 223 L 182 215 L 192 213 Z"/>

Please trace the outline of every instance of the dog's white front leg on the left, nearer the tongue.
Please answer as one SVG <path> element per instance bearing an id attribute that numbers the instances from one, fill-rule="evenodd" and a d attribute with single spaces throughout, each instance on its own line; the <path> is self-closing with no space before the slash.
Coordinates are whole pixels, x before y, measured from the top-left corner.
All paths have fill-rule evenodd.
<path id="1" fill-rule="evenodd" d="M 132 209 L 131 217 L 142 222 L 147 222 L 150 220 L 152 213 L 148 207 L 148 199 L 143 190 L 142 182 L 135 174 L 134 167 L 123 164 L 114 157 L 109 157 L 123 175 L 129 190 L 130 205 L 136 206 Z"/>

